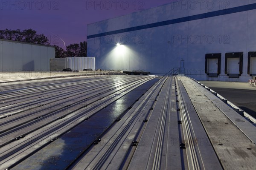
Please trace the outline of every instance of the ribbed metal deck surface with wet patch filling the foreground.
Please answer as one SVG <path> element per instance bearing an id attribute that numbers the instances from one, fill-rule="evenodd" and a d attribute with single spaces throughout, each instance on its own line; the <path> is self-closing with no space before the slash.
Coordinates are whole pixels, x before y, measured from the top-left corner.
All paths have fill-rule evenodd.
<path id="1" fill-rule="evenodd" d="M 0 169 L 256 169 L 256 127 L 188 77 L 0 88 Z"/>

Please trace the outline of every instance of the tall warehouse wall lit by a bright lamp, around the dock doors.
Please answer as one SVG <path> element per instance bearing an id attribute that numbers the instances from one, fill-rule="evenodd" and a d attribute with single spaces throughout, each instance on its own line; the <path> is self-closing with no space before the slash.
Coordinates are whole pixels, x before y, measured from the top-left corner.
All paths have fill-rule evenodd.
<path id="1" fill-rule="evenodd" d="M 251 76 L 247 74 L 247 55 L 256 51 L 255 3 L 256 0 L 174 1 L 92 23 L 87 26 L 87 55 L 96 56 L 96 68 L 101 69 L 165 74 L 180 67 L 180 60 L 184 59 L 186 75 L 195 79 L 248 81 Z M 209 12 L 214 17 L 209 17 Z M 191 20 L 198 14 L 202 14 L 199 19 Z M 230 52 L 243 52 L 239 78 L 225 74 L 225 54 Z M 205 74 L 205 54 L 212 53 L 221 53 L 218 77 Z"/>

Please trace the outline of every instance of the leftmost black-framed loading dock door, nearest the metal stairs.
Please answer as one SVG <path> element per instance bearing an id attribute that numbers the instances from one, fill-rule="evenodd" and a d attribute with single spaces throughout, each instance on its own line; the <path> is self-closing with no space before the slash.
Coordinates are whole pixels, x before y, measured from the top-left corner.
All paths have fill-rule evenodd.
<path id="1" fill-rule="evenodd" d="M 205 54 L 205 73 L 208 77 L 218 77 L 221 73 L 221 53 Z"/>

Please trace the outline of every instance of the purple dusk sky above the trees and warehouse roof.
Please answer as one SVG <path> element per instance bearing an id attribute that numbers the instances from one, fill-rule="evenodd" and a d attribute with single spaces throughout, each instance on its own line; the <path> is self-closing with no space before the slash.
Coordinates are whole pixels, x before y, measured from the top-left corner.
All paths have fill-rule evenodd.
<path id="1" fill-rule="evenodd" d="M 87 40 L 87 24 L 153 8 L 172 0 L 0 0 L 0 29 L 29 29 L 51 45 Z M 116 23 L 118 24 L 118 23 Z M 64 45 L 65 43 L 65 45 Z"/>

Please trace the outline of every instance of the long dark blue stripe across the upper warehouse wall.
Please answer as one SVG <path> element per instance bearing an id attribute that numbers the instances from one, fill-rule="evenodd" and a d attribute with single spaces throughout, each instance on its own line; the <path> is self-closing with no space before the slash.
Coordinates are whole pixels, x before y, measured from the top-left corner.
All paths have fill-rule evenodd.
<path id="1" fill-rule="evenodd" d="M 124 28 L 124 29 L 119 29 L 119 30 L 115 30 L 115 31 L 108 31 L 108 32 L 100 33 L 100 34 L 88 35 L 87 39 L 102 37 L 102 36 L 107 36 L 107 35 L 113 35 L 113 34 L 119 34 L 119 33 L 124 33 L 124 32 L 130 32 L 130 31 L 137 31 L 137 30 L 146 29 L 146 28 L 154 28 L 154 27 L 166 26 L 166 25 L 171 25 L 171 24 L 176 24 L 176 23 L 183 23 L 186 21 L 200 20 L 200 19 L 209 18 L 209 17 L 216 17 L 216 16 L 221 16 L 221 15 L 226 15 L 226 14 L 233 14 L 233 13 L 237 13 L 237 12 L 249 11 L 249 10 L 253 10 L 253 9 L 256 9 L 256 3 L 244 5 L 244 6 L 238 6 L 238 7 L 234 7 L 234 8 L 222 9 L 219 11 L 207 12 L 204 14 L 197 14 L 197 15 L 192 15 L 192 16 L 188 16 L 188 17 L 177 18 L 177 19 L 173 19 L 173 20 L 161 21 L 158 23 L 146 24 L 143 26 L 135 26 L 135 27 Z"/>

